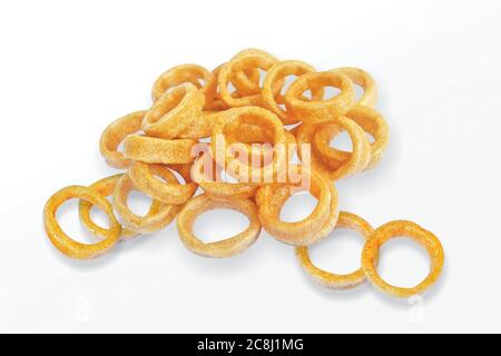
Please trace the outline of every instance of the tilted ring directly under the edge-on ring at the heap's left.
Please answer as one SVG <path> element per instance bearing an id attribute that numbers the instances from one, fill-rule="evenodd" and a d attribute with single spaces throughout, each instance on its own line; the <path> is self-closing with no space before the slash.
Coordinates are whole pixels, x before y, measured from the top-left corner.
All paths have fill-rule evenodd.
<path id="1" fill-rule="evenodd" d="M 161 166 L 135 161 L 129 168 L 129 177 L 139 191 L 155 200 L 165 204 L 185 204 L 193 197 L 195 190 L 197 190 L 197 185 L 191 181 L 189 167 L 187 167 L 188 169 L 179 169 L 178 171 L 186 180 L 186 184 L 184 185 L 179 184 L 177 179 L 176 182 L 173 184 L 163 181 L 155 176 L 159 175 L 161 177 L 161 172 L 169 168 L 175 169 L 175 166 Z"/>

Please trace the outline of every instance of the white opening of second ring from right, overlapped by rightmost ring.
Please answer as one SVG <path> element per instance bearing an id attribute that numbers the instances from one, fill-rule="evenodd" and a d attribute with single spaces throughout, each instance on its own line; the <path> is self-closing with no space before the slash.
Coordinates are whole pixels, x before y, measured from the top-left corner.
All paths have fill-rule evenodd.
<path id="1" fill-rule="evenodd" d="M 310 258 L 320 269 L 346 275 L 356 271 L 365 240 L 353 229 L 335 229 L 330 237 L 310 247 Z"/>

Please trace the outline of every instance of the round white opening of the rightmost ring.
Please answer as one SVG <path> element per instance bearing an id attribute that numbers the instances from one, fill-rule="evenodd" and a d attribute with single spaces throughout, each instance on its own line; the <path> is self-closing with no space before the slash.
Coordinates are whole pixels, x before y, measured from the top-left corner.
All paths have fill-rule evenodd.
<path id="1" fill-rule="evenodd" d="M 377 273 L 393 286 L 414 287 L 426 278 L 429 271 L 426 249 L 409 237 L 393 238 L 380 248 Z"/>

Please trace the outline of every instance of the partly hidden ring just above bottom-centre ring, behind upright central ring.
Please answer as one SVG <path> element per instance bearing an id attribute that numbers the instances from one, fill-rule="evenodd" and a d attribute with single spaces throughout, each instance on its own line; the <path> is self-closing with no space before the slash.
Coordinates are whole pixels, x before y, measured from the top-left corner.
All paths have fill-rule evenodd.
<path id="1" fill-rule="evenodd" d="M 222 167 L 214 161 L 209 152 L 206 152 L 193 164 L 191 178 L 213 200 L 235 200 L 254 197 L 258 185 L 223 181 L 222 171 Z"/>

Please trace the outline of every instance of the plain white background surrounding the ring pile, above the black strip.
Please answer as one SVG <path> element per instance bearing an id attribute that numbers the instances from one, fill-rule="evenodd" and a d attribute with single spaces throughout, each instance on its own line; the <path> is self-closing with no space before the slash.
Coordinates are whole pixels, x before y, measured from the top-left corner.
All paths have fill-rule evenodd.
<path id="1" fill-rule="evenodd" d="M 501 332 L 500 12 L 499 1 L 2 1 L 0 330 Z M 445 269 L 424 301 L 324 289 L 265 233 L 219 260 L 186 250 L 175 224 L 91 261 L 50 245 L 47 198 L 115 172 L 98 151 L 107 123 L 148 108 L 167 68 L 214 68 L 247 47 L 374 76 L 391 142 L 376 169 L 337 185 L 341 208 L 439 236 Z M 312 206 L 295 197 L 284 214 Z M 76 208 L 63 206 L 61 225 L 90 239 Z M 206 240 L 243 228 L 227 211 L 196 225 Z M 348 271 L 361 246 L 337 230 L 312 256 Z M 428 256 L 395 240 L 380 270 L 412 285 Z"/>

